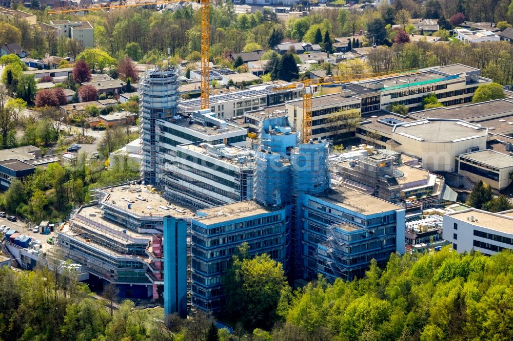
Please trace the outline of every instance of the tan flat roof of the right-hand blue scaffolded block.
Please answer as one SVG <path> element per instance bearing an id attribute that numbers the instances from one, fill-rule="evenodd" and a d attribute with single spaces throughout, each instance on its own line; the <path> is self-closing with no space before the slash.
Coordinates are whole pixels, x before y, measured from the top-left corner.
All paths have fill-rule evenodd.
<path id="1" fill-rule="evenodd" d="M 372 197 L 360 191 L 346 187 L 337 187 L 332 193 L 323 195 L 320 198 L 363 215 L 372 215 L 391 210 L 403 209 L 402 206 L 392 204 L 391 202 Z"/>

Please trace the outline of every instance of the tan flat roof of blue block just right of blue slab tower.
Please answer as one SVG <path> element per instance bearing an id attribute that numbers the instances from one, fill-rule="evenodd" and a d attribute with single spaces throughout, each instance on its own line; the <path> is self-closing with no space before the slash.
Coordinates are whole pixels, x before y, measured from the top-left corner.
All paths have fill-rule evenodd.
<path id="1" fill-rule="evenodd" d="M 207 216 L 195 217 L 194 220 L 205 225 L 228 222 L 235 219 L 272 212 L 254 200 L 238 201 L 232 204 L 215 206 L 198 210 Z"/>

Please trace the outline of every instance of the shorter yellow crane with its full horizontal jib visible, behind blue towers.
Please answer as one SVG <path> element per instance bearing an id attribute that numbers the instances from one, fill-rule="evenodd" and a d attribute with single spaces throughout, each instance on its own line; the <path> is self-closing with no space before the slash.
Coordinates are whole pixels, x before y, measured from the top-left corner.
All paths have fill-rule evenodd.
<path id="1" fill-rule="evenodd" d="M 368 80 L 373 78 L 380 78 L 383 76 L 398 76 L 402 74 L 417 73 L 417 69 L 405 69 L 386 72 L 371 72 L 371 73 L 358 73 L 342 76 L 327 76 L 323 78 L 305 79 L 297 82 L 292 82 L 285 86 L 273 87 L 272 90 L 287 90 L 303 88 L 303 127 L 302 127 L 302 140 L 303 143 L 310 141 L 312 136 L 312 97 L 314 87 L 323 85 L 340 84 L 354 80 Z"/>

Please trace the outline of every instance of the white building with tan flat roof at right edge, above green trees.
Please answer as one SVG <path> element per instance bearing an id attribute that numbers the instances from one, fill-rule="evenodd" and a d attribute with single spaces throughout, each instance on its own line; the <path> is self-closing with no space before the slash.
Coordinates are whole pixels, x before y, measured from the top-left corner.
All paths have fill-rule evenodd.
<path id="1" fill-rule="evenodd" d="M 492 213 L 476 208 L 444 215 L 443 238 L 456 251 L 491 255 L 513 250 L 513 211 Z"/>

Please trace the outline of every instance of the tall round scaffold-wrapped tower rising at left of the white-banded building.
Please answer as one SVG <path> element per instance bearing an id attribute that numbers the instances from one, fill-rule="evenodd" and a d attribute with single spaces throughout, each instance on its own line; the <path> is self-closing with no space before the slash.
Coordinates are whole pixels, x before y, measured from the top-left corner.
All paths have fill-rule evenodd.
<path id="1" fill-rule="evenodd" d="M 176 116 L 179 97 L 177 78 L 178 71 L 174 68 L 156 69 L 146 71 L 140 82 L 141 173 L 144 181 L 149 184 L 156 183 L 157 169 L 163 167 L 157 159 L 160 131 L 156 120 Z"/>

